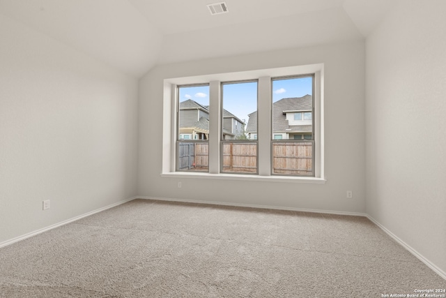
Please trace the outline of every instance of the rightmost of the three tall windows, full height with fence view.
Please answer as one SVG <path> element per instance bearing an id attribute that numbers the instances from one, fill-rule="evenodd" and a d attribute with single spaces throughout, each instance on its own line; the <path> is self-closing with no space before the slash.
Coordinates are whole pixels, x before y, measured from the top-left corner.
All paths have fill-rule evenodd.
<path id="1" fill-rule="evenodd" d="M 272 172 L 314 176 L 314 76 L 272 78 Z"/>

